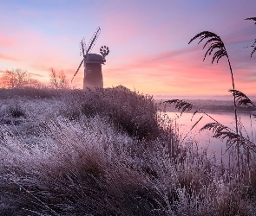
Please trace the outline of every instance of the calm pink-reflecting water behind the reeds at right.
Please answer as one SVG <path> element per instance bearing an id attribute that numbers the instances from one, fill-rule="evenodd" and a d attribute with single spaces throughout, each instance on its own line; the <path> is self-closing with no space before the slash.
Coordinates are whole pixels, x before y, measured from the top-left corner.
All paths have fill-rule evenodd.
<path id="1" fill-rule="evenodd" d="M 216 156 L 217 162 L 220 162 L 221 149 L 222 153 L 226 150 L 226 140 L 222 142 L 220 139 L 213 137 L 213 132 L 209 130 L 203 130 L 199 132 L 200 128 L 207 123 L 213 123 L 213 120 L 206 115 L 197 113 L 194 118 L 193 113 L 182 113 L 181 112 L 167 112 L 170 118 L 176 119 L 177 124 L 180 126 L 181 136 L 185 137 L 184 143 L 187 139 L 194 139 L 200 148 L 207 148 L 208 156 Z M 209 114 L 212 118 L 217 120 L 220 124 L 224 124 L 227 127 L 235 131 L 234 114 L 233 112 L 213 112 Z M 201 118 L 200 122 L 194 126 L 194 129 L 188 133 L 193 125 Z M 253 143 L 256 142 L 256 119 L 252 117 L 250 119 L 249 113 L 239 113 L 239 120 L 243 127 L 240 129 L 243 136 L 249 138 Z M 188 135 L 187 135 L 188 133 Z M 227 155 L 222 156 L 224 162 L 227 161 Z"/>

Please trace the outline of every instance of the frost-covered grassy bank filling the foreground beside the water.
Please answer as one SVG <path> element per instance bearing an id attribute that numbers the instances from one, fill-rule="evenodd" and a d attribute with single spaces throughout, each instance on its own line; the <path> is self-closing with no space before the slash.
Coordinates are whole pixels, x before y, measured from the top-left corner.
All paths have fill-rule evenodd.
<path id="1" fill-rule="evenodd" d="M 148 95 L 2 98 L 0 123 L 0 215 L 255 213 L 255 164 L 238 187 Z"/>

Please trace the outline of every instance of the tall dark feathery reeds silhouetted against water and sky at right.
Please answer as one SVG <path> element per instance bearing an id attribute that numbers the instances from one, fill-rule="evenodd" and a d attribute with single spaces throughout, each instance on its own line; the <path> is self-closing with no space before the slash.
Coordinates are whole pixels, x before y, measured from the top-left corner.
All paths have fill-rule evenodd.
<path id="1" fill-rule="evenodd" d="M 248 19 L 249 20 L 256 20 L 255 18 L 248 18 Z M 196 109 L 194 114 L 196 114 L 198 111 L 200 111 L 200 112 L 207 115 L 209 118 L 211 118 L 214 121 L 213 123 L 206 124 L 201 130 L 212 130 L 213 134 L 214 134 L 213 137 L 219 138 L 222 141 L 226 139 L 226 151 L 229 150 L 229 149 L 232 149 L 233 145 L 236 146 L 238 181 L 240 182 L 240 165 L 241 165 L 240 163 L 242 163 L 242 162 L 240 162 L 240 157 L 241 157 L 240 147 L 243 146 L 244 149 L 247 150 L 247 163 L 248 163 L 248 167 L 250 167 L 249 166 L 249 161 L 250 161 L 249 150 L 252 150 L 254 153 L 256 153 L 256 144 L 253 143 L 252 141 L 250 141 L 249 138 L 243 137 L 241 131 L 239 130 L 240 122 L 239 122 L 239 119 L 238 119 L 237 108 L 239 108 L 241 106 L 244 106 L 246 108 L 252 108 L 252 107 L 255 108 L 256 106 L 246 96 L 246 94 L 244 94 L 243 92 L 240 92 L 240 91 L 235 89 L 234 78 L 233 78 L 233 69 L 231 67 L 231 62 L 230 62 L 229 56 L 226 52 L 224 42 L 221 40 L 220 36 L 214 34 L 213 32 L 202 31 L 199 34 L 195 35 L 188 42 L 188 44 L 190 44 L 192 41 L 194 41 L 198 38 L 200 39 L 198 44 L 201 41 L 207 40 L 207 42 L 205 43 L 205 45 L 203 47 L 203 49 L 204 49 L 208 46 L 207 52 L 206 52 L 203 60 L 206 59 L 207 54 L 211 55 L 212 53 L 213 53 L 212 64 L 215 60 L 218 63 L 219 60 L 223 57 L 226 57 L 226 59 L 227 59 L 229 69 L 230 69 L 231 79 L 232 79 L 232 86 L 233 86 L 233 89 L 230 90 L 229 92 L 232 92 L 232 94 L 233 94 L 235 131 L 231 130 L 230 128 L 226 127 L 225 125 L 220 124 L 217 120 L 213 119 L 206 112 L 201 111 L 198 108 Z M 252 46 L 252 47 L 254 47 L 254 46 Z M 254 52 L 255 52 L 255 48 L 253 49 L 251 57 L 252 57 Z M 168 100 L 166 102 L 170 103 L 170 104 L 174 104 L 176 109 L 181 110 L 181 114 L 182 114 L 183 111 L 189 111 L 194 107 L 194 105 L 191 105 L 190 103 L 187 103 L 186 101 L 182 101 L 182 100 L 179 100 L 179 99 Z M 255 115 L 253 115 L 253 116 L 255 117 Z M 196 124 L 198 124 L 198 122 L 196 122 Z"/>

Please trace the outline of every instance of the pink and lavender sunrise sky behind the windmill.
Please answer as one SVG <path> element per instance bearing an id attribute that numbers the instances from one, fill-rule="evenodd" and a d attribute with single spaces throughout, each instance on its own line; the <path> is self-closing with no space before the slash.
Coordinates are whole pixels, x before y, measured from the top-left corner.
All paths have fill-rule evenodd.
<path id="1" fill-rule="evenodd" d="M 232 88 L 226 58 L 211 65 L 197 41 L 200 31 L 220 35 L 231 60 L 235 87 L 256 95 L 256 54 L 250 59 L 256 2 L 214 1 L 32 1 L 0 0 L 0 72 L 21 68 L 49 81 L 49 67 L 69 80 L 82 58 L 79 42 L 89 42 L 100 26 L 92 53 L 107 45 L 104 87 L 127 86 L 153 95 L 226 95 Z M 82 88 L 83 68 L 70 86 Z"/>

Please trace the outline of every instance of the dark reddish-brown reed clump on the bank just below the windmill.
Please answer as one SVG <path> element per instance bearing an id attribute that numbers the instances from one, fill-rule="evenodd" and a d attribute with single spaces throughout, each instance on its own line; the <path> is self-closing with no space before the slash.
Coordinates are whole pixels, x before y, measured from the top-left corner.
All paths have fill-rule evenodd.
<path id="1" fill-rule="evenodd" d="M 129 136 L 142 139 L 154 139 L 159 135 L 157 108 L 151 96 L 131 92 L 119 86 L 93 91 L 71 91 L 65 97 L 69 101 L 66 115 L 70 119 L 85 115 L 108 117 L 116 129 L 125 131 Z"/>

